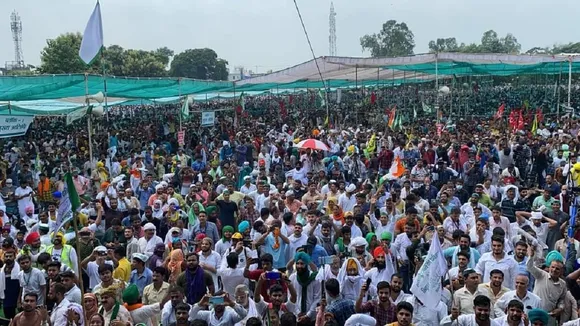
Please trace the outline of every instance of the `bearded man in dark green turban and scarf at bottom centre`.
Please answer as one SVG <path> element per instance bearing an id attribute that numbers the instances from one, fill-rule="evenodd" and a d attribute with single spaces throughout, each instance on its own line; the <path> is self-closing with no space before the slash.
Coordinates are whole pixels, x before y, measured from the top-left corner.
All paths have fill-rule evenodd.
<path id="1" fill-rule="evenodd" d="M 294 255 L 296 272 L 290 275 L 290 282 L 297 293 L 297 314 L 298 323 L 316 320 L 316 305 L 321 298 L 320 281 L 316 279 L 316 272 L 311 272 L 308 268 L 310 256 L 304 252 L 297 252 Z"/>

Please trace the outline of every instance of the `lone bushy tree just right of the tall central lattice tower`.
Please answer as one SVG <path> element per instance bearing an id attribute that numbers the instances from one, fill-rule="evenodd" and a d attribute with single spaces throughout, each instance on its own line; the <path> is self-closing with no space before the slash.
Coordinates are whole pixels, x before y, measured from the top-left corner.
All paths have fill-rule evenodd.
<path id="1" fill-rule="evenodd" d="M 361 37 L 360 45 L 373 57 L 401 57 L 413 54 L 415 36 L 404 22 L 389 20 L 378 34 Z"/>

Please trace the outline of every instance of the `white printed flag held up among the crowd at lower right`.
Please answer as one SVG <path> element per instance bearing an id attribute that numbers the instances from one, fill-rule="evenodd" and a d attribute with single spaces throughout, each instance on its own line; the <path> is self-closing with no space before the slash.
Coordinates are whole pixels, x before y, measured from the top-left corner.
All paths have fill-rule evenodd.
<path id="1" fill-rule="evenodd" d="M 441 277 L 447 273 L 447 261 L 435 235 L 431 240 L 431 247 L 423 265 L 411 285 L 411 293 L 415 295 L 427 308 L 435 309 L 441 301 Z"/>

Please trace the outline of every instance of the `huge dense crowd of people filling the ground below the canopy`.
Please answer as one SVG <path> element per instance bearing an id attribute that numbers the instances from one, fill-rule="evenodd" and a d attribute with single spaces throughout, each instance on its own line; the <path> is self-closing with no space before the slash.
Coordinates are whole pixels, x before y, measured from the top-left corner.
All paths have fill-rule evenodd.
<path id="1" fill-rule="evenodd" d="M 550 110 L 556 92 L 542 87 L 463 92 L 473 107 Z M 546 114 L 532 133 L 472 117 L 438 130 L 422 112 L 393 131 L 364 117 L 437 92 L 376 92 L 331 98 L 330 123 L 303 111 L 310 93 L 247 97 L 241 111 L 194 103 L 183 121 L 178 104 L 116 107 L 92 144 L 82 120 L 36 118 L 2 140 L 4 321 L 580 326 L 580 123 Z M 385 105 L 389 92 L 402 96 Z M 349 105 L 381 109 L 354 121 Z M 198 111 L 228 107 L 200 126 Z M 82 202 L 67 219 L 65 174 Z M 412 290 L 433 248 L 447 264 L 436 306 Z"/>

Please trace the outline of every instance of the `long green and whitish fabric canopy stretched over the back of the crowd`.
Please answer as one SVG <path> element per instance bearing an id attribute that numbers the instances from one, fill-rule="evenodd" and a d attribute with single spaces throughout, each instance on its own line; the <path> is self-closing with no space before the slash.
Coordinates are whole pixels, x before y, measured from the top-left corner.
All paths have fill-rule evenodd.
<path id="1" fill-rule="evenodd" d="M 325 80 L 320 80 L 317 68 Z M 324 85 L 336 88 L 422 83 L 436 78 L 468 75 L 510 76 L 580 72 L 580 56 L 439 53 L 398 58 L 319 57 L 271 74 L 226 81 L 187 78 L 106 77 L 109 105 L 170 104 L 179 96 L 196 101 L 245 95 L 292 94 Z M 89 94 L 104 92 L 99 75 L 41 75 L 0 77 L 0 114 L 65 114 L 83 105 Z"/>

